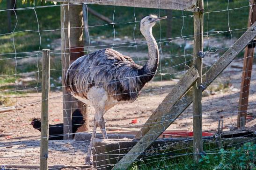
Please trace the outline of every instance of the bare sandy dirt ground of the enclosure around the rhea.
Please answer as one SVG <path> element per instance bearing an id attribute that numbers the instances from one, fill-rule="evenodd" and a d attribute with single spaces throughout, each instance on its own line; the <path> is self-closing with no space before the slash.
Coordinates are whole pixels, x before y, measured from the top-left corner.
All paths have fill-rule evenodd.
<path id="1" fill-rule="evenodd" d="M 239 64 L 241 60 L 234 61 Z M 256 71 L 254 65 L 253 72 Z M 117 105 L 105 114 L 107 129 L 131 128 L 139 129 L 154 109 L 161 103 L 164 97 L 172 89 L 178 80 L 149 82 L 143 88 L 138 100 L 133 103 Z M 216 132 L 218 119 L 224 119 L 224 130 L 235 126 L 237 119 L 237 106 L 239 100 L 241 69 L 227 68 L 213 86 L 228 82 L 228 88 L 219 91 L 204 93 L 203 105 L 203 130 Z M 249 95 L 248 113 L 256 116 L 256 76 L 252 76 Z M 40 155 L 40 132 L 33 129 L 30 121 L 33 117 L 41 116 L 41 94 L 29 93 L 16 100 L 17 109 L 0 113 L 0 164 L 38 164 Z M 50 93 L 50 124 L 62 122 L 62 92 Z M 90 122 L 93 119 L 94 110 L 89 107 Z M 132 120 L 137 123 L 132 124 Z M 252 118 L 251 118 L 252 119 Z M 254 117 L 253 117 L 254 119 Z M 255 120 L 248 120 L 255 122 Z M 192 129 L 191 106 L 173 123 L 169 129 Z M 88 143 L 74 140 L 50 141 L 49 164 L 83 164 Z M 14 170 L 14 169 L 12 169 Z M 19 169 L 20 170 L 20 169 Z M 67 169 L 66 169 L 67 170 Z"/>

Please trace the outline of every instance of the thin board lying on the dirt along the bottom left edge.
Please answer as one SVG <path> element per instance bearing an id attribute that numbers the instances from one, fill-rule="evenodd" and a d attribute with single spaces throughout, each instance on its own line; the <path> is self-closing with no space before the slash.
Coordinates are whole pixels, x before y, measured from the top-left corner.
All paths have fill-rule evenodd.
<path id="1" fill-rule="evenodd" d="M 22 168 L 22 169 L 39 169 L 39 164 L 0 164 L 0 167 L 3 168 Z M 91 168 L 92 165 L 48 165 L 51 169 L 59 169 L 59 168 Z"/>

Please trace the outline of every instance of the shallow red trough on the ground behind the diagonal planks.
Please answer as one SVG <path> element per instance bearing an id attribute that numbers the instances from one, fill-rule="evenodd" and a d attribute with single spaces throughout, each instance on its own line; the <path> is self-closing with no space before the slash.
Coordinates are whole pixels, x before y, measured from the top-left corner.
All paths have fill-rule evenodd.
<path id="1" fill-rule="evenodd" d="M 213 133 L 210 132 L 203 132 L 202 136 L 213 136 Z M 173 131 L 173 130 L 166 130 L 162 133 L 162 137 L 166 138 L 166 137 L 193 137 L 193 132 L 189 132 L 189 131 Z"/>

